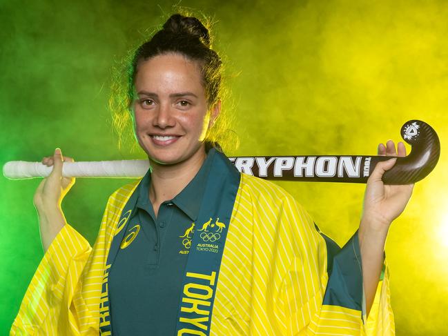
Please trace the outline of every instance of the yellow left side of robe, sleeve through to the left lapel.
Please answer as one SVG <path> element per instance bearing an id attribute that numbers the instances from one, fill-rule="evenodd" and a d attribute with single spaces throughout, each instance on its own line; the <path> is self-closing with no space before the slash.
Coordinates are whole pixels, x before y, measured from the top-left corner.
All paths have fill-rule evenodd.
<path id="1" fill-rule="evenodd" d="M 72 226 L 59 231 L 31 279 L 10 335 L 98 335 L 110 223 L 126 199 L 128 190 L 120 196 L 123 189 L 108 199 L 93 250 Z"/>

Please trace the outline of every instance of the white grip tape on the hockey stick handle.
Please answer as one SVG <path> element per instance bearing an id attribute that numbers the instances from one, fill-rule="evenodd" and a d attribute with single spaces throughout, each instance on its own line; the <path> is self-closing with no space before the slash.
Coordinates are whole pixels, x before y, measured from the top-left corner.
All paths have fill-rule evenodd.
<path id="1" fill-rule="evenodd" d="M 62 176 L 136 179 L 144 176 L 148 168 L 148 160 L 64 162 Z M 47 177 L 52 169 L 41 162 L 9 161 L 3 166 L 3 175 L 8 179 L 31 179 Z"/>

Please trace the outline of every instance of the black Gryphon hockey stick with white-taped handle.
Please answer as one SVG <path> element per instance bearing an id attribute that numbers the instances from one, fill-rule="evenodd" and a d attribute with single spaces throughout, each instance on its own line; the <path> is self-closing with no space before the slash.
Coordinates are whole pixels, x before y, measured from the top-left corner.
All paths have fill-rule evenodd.
<path id="1" fill-rule="evenodd" d="M 395 166 L 384 173 L 384 184 L 412 184 L 431 172 L 440 157 L 440 141 L 427 123 L 411 120 L 401 128 L 402 138 L 411 145 L 407 157 L 398 157 Z M 391 157 L 353 155 L 311 155 L 275 157 L 231 157 L 235 167 L 246 174 L 283 181 L 328 181 L 366 183 L 376 164 Z M 147 160 L 66 162 L 66 177 L 142 177 Z M 40 162 L 10 161 L 3 166 L 9 179 L 46 177 L 52 167 Z"/>

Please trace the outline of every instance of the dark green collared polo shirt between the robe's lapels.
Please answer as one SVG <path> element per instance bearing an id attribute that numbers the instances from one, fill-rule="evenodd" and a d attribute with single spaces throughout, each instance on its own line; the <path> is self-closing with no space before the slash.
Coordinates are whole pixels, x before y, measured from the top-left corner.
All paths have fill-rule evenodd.
<path id="1" fill-rule="evenodd" d="M 157 218 L 149 200 L 150 171 L 135 190 L 136 210 L 109 274 L 114 336 L 175 334 L 184 268 L 210 170 L 211 150 L 197 175 Z"/>

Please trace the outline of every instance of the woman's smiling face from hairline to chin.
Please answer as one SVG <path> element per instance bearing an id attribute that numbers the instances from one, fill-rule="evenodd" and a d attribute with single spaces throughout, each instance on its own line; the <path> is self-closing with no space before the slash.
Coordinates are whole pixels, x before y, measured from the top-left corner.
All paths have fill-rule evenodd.
<path id="1" fill-rule="evenodd" d="M 139 63 L 135 77 L 135 134 L 158 164 L 205 157 L 210 113 L 195 61 L 179 54 Z"/>

